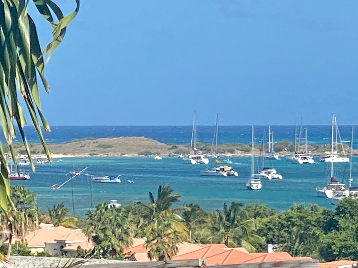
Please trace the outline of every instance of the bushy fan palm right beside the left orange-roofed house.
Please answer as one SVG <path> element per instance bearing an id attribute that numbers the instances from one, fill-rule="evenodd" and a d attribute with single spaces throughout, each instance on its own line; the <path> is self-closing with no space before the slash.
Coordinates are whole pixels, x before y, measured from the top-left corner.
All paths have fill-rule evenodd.
<path id="1" fill-rule="evenodd" d="M 92 238 L 97 257 L 114 257 L 132 245 L 132 216 L 124 208 L 108 208 L 103 203 L 97 205 L 94 213 L 88 210 L 86 216 L 83 231 Z"/>

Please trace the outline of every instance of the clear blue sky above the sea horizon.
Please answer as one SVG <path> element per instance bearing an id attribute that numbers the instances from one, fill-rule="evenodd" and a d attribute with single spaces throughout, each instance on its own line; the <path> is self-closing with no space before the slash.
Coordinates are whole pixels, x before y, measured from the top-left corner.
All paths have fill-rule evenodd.
<path id="1" fill-rule="evenodd" d="M 43 111 L 51 125 L 190 125 L 195 102 L 206 125 L 216 112 L 358 124 L 357 14 L 357 0 L 83 0 L 46 66 Z"/>

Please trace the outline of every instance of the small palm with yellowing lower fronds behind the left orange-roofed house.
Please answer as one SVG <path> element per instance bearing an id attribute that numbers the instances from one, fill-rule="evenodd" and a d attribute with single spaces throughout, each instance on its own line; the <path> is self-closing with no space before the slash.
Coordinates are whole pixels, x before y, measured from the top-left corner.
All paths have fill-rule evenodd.
<path id="1" fill-rule="evenodd" d="M 77 228 L 76 222 L 78 219 L 76 217 L 68 217 L 68 213 L 70 211 L 70 209 L 64 207 L 62 202 L 60 204 L 53 205 L 53 207 L 48 210 L 48 214 L 54 226 Z"/>

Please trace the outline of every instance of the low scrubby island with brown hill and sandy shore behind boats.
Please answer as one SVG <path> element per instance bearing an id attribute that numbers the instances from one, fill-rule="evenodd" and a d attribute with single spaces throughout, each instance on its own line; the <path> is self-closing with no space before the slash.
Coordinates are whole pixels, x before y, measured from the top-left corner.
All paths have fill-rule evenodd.
<path id="1" fill-rule="evenodd" d="M 30 148 L 34 153 L 43 154 L 42 145 L 39 143 L 31 143 Z M 48 144 L 49 149 L 53 154 L 63 156 L 174 156 L 176 154 L 189 153 L 190 144 L 172 144 L 161 143 L 156 140 L 144 137 L 120 137 L 120 138 L 86 138 L 73 140 L 72 142 Z M 196 143 L 197 149 L 202 154 L 213 154 L 214 147 L 211 143 Z M 278 154 L 286 155 L 293 154 L 295 144 L 282 140 L 274 143 L 275 152 Z M 344 151 L 350 151 L 347 145 L 343 145 Z M 262 155 L 262 145 L 255 145 L 254 154 Z M 10 152 L 8 147 L 4 147 L 5 152 Z M 265 149 L 267 150 L 267 148 Z M 317 145 L 308 144 L 307 150 L 312 154 L 322 155 L 330 151 L 330 145 Z M 338 147 L 338 153 L 342 153 L 342 147 Z M 299 152 L 305 151 L 302 146 Z M 14 143 L 14 152 L 16 154 L 26 154 L 26 149 L 21 143 Z M 358 151 L 354 150 L 357 154 Z M 251 154 L 251 145 L 242 143 L 223 143 L 218 144 L 218 155 L 220 156 L 245 156 Z"/>

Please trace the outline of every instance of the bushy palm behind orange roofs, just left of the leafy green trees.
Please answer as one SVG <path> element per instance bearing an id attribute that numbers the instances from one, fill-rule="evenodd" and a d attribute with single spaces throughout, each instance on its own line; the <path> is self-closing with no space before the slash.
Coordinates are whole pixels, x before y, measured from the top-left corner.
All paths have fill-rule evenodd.
<path id="1" fill-rule="evenodd" d="M 254 233 L 257 229 L 256 220 L 248 218 L 242 207 L 242 203 L 231 203 L 228 208 L 224 203 L 222 211 L 216 210 L 210 214 L 214 240 L 228 247 L 240 245 L 248 252 L 255 252 L 250 240 L 261 241 L 262 238 Z"/>

